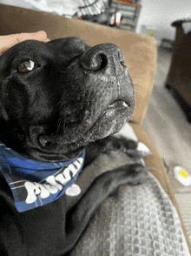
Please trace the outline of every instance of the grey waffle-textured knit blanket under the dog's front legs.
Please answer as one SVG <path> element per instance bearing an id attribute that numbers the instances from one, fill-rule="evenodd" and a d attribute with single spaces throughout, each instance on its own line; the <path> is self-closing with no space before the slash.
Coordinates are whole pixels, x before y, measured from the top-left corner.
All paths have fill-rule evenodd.
<path id="1" fill-rule="evenodd" d="M 97 171 L 100 165 L 105 172 L 108 163 L 115 165 L 115 162 L 113 156 L 103 155 L 89 167 L 89 173 L 100 172 Z M 190 253 L 175 206 L 149 173 L 145 184 L 122 185 L 117 195 L 103 202 L 69 255 L 189 256 Z"/>

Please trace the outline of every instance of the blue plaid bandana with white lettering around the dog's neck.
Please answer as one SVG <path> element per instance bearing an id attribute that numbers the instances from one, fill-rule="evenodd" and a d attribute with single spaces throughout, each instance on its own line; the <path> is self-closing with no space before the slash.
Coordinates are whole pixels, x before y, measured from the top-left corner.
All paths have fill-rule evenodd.
<path id="1" fill-rule="evenodd" d="M 18 212 L 60 198 L 82 171 L 85 150 L 68 162 L 33 160 L 0 142 L 0 171 L 10 185 Z"/>

